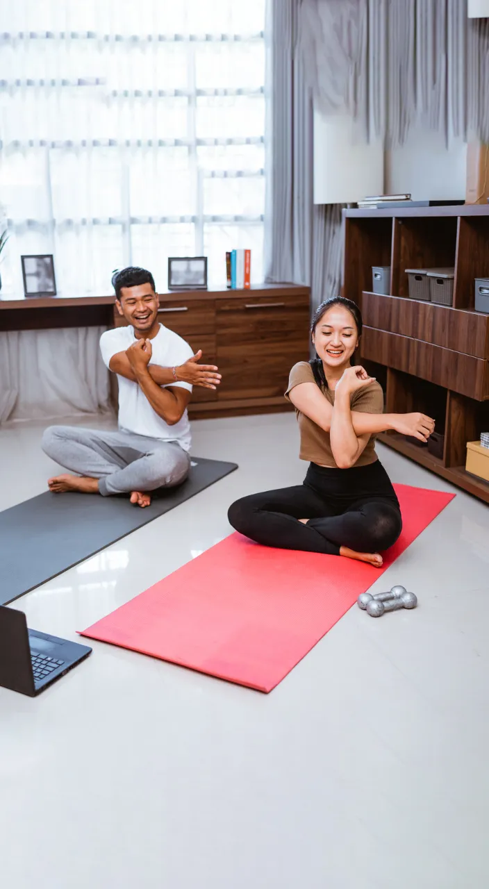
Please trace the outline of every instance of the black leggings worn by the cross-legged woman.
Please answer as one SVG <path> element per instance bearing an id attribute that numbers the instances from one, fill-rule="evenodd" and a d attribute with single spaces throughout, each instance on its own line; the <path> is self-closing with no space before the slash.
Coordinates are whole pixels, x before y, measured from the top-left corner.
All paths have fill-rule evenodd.
<path id="1" fill-rule="evenodd" d="M 229 507 L 228 519 L 264 546 L 332 556 L 340 547 L 389 549 L 402 530 L 396 493 L 379 461 L 352 469 L 311 463 L 302 485 L 243 497 Z"/>

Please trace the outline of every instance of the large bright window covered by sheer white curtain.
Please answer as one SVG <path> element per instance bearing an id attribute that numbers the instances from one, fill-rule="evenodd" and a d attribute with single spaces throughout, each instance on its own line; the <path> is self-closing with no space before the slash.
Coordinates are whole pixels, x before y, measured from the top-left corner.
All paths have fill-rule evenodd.
<path id="1" fill-rule="evenodd" d="M 263 279 L 265 0 L 22 0 L 0 34 L 0 204 L 21 253 L 53 253 L 59 292 L 114 268 L 252 250 Z"/>

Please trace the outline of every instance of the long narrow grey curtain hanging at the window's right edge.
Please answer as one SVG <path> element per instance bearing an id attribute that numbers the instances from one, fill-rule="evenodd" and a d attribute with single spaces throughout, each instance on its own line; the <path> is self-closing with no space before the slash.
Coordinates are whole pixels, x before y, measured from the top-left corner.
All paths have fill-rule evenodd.
<path id="1" fill-rule="evenodd" d="M 313 204 L 313 110 L 298 47 L 300 0 L 273 0 L 272 212 L 267 275 L 311 289 L 311 308 L 341 289 L 341 205 Z"/>

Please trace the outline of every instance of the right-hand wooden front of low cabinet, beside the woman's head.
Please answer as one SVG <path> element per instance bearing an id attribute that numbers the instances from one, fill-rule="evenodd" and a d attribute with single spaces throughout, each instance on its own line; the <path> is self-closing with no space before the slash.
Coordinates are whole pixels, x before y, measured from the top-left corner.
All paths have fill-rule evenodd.
<path id="1" fill-rule="evenodd" d="M 220 398 L 283 396 L 293 364 L 309 358 L 309 299 L 219 300 Z"/>

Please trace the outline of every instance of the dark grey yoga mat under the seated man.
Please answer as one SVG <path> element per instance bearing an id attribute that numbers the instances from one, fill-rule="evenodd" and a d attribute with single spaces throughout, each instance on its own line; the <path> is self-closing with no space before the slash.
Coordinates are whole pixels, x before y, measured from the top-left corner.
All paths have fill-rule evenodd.
<path id="1" fill-rule="evenodd" d="M 0 605 L 50 581 L 154 518 L 163 516 L 237 469 L 236 463 L 192 457 L 178 488 L 154 492 L 150 506 L 128 497 L 46 491 L 0 512 Z"/>

